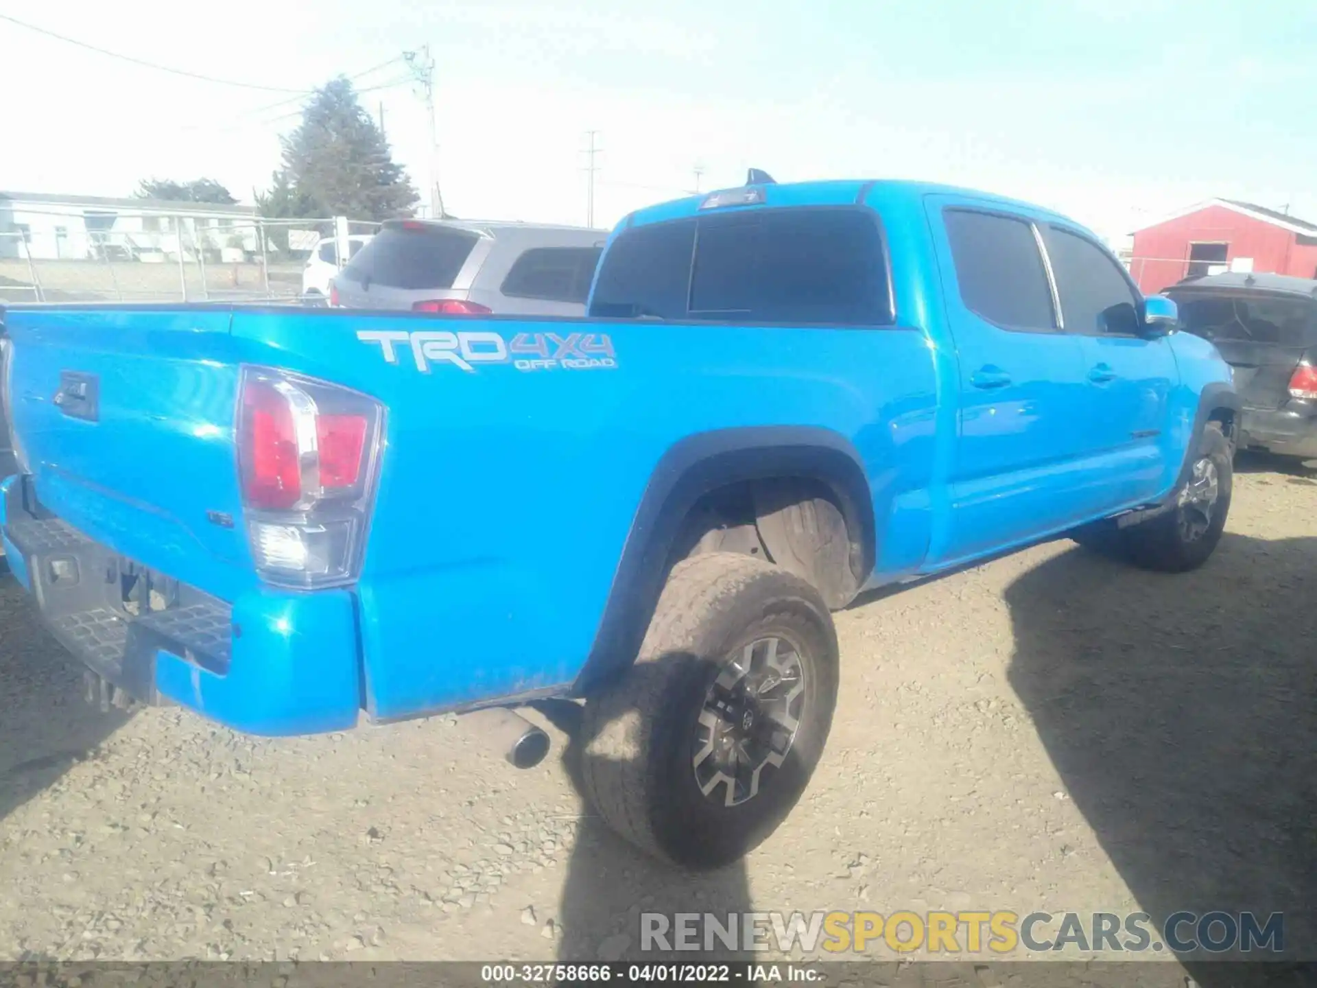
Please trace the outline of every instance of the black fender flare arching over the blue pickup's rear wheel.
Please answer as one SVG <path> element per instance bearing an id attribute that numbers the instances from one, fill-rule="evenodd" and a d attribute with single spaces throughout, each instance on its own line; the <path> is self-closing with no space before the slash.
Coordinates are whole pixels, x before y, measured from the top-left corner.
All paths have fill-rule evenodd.
<path id="1" fill-rule="evenodd" d="M 668 563 L 686 516 L 719 487 L 792 477 L 817 481 L 835 497 L 856 552 L 863 584 L 877 547 L 873 498 L 860 454 L 846 436 L 809 425 L 715 429 L 673 444 L 649 476 L 614 572 L 594 644 L 573 692 L 635 661 L 668 576 Z"/>

